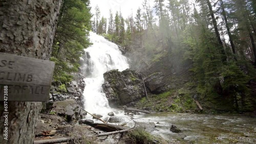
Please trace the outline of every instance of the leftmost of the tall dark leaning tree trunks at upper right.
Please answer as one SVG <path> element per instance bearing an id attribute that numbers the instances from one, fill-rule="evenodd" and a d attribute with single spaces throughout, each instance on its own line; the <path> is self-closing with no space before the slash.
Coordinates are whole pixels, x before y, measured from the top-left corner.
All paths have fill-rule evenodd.
<path id="1" fill-rule="evenodd" d="M 211 16 L 211 19 L 212 19 L 212 23 L 214 24 L 215 34 L 217 36 L 217 39 L 218 39 L 218 42 L 219 42 L 219 45 L 220 45 L 220 49 L 221 49 L 220 51 L 221 51 L 221 54 L 222 54 L 222 62 L 224 62 L 224 61 L 226 61 L 226 54 L 225 54 L 225 51 L 224 51 L 223 43 L 221 41 L 220 33 L 218 31 L 217 21 L 216 21 L 216 18 L 214 16 L 214 11 L 212 10 L 210 1 L 206 0 L 206 2 L 207 2 L 207 5 L 208 5 L 208 8 L 209 8 L 209 11 L 210 11 L 210 16 Z"/>

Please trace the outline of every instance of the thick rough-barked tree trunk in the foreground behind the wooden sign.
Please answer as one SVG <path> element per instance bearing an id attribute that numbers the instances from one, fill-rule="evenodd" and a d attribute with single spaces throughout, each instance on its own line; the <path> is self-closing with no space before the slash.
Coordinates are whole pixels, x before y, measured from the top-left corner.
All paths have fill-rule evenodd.
<path id="1" fill-rule="evenodd" d="M 61 3 L 0 0 L 0 52 L 49 60 Z M 41 102 L 8 102 L 8 140 L 3 135 L 3 104 L 0 143 L 33 143 Z"/>

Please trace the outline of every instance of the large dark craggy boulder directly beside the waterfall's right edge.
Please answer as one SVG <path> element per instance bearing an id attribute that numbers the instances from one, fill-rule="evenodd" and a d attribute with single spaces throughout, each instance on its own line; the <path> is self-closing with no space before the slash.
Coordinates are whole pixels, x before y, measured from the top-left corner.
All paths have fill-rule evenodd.
<path id="1" fill-rule="evenodd" d="M 144 97 L 141 76 L 134 70 L 126 69 L 120 72 L 114 69 L 107 71 L 103 76 L 105 81 L 102 88 L 110 106 L 131 106 Z"/>

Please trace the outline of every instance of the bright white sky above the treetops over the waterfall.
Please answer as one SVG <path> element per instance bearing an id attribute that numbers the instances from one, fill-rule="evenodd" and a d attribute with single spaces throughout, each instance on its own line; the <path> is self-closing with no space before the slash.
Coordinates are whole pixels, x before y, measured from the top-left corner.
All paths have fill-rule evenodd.
<path id="1" fill-rule="evenodd" d="M 100 16 L 109 17 L 109 10 L 115 14 L 120 11 L 124 18 L 127 18 L 132 13 L 135 16 L 137 9 L 142 9 L 143 0 L 92 0 L 91 7 L 92 13 L 95 13 L 95 7 L 98 5 L 100 9 Z M 152 4 L 153 6 L 153 4 Z"/>

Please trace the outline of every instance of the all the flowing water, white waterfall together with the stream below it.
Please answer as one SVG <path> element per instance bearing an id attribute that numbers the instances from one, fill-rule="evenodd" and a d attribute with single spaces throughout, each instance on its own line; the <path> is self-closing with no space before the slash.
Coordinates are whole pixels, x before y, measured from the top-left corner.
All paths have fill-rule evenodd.
<path id="1" fill-rule="evenodd" d="M 127 125 L 132 126 L 129 116 L 122 110 L 109 107 L 108 100 L 102 91 L 103 74 L 111 69 L 122 71 L 129 68 L 127 59 L 122 56 L 118 46 L 102 36 L 90 32 L 93 43 L 86 49 L 86 59 L 82 66 L 86 88 L 84 89 L 84 107 L 91 113 L 108 117 L 108 112 L 123 118 Z M 90 115 L 87 118 L 92 118 Z M 180 143 L 256 143 L 256 118 L 243 115 L 209 115 L 189 113 L 153 113 L 134 116 L 135 122 L 156 124 L 152 134 L 160 135 L 170 141 Z M 175 125 L 181 133 L 171 132 L 170 126 Z"/>

